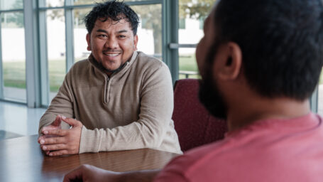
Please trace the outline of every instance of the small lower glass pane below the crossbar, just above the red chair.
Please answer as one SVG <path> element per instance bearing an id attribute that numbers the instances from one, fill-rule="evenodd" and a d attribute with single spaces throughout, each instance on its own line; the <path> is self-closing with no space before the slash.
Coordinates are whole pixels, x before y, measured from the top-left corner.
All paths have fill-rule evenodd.
<path id="1" fill-rule="evenodd" d="M 179 79 L 199 78 L 199 71 L 195 58 L 195 48 L 179 48 Z"/>

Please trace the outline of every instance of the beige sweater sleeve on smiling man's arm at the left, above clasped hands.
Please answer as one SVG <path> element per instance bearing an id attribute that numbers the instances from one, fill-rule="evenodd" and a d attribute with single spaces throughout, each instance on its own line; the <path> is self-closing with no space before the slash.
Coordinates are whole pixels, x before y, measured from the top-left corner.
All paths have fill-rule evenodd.
<path id="1" fill-rule="evenodd" d="M 60 90 L 58 90 L 58 94 L 53 98 L 45 114 L 40 118 L 38 134 L 40 134 L 43 127 L 54 122 L 56 116 L 59 114 L 65 117 L 74 117 L 72 92 L 70 92 L 68 80 L 70 80 L 69 73 L 65 76 L 65 79 L 60 86 Z M 62 122 L 61 127 L 62 129 L 69 129 L 70 125 Z"/>

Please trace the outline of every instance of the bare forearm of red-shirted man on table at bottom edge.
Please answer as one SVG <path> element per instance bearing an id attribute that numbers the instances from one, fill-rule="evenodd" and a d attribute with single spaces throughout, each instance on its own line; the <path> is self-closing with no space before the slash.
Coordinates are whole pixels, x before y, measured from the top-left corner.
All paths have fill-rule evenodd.
<path id="1" fill-rule="evenodd" d="M 117 178 L 116 182 L 149 182 L 153 181 L 153 179 L 155 178 L 155 176 L 157 176 L 159 172 L 160 169 L 119 173 L 119 177 Z"/>

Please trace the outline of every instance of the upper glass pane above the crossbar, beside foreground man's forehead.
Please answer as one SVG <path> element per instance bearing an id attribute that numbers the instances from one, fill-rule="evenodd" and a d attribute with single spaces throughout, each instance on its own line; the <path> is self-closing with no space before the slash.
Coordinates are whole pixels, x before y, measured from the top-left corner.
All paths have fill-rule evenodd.
<path id="1" fill-rule="evenodd" d="M 179 43 L 199 42 L 204 35 L 202 28 L 204 19 L 211 11 L 213 4 L 214 0 L 179 0 Z"/>

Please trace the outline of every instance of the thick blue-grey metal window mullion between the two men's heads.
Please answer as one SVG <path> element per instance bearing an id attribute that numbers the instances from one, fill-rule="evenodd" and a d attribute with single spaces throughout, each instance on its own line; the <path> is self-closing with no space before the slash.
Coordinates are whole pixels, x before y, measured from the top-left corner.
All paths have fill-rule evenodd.
<path id="1" fill-rule="evenodd" d="M 178 49 L 171 49 L 170 43 L 178 43 L 178 0 L 163 0 L 163 61 L 170 68 L 173 83 L 178 80 Z"/>

